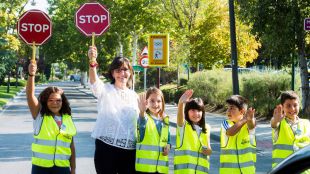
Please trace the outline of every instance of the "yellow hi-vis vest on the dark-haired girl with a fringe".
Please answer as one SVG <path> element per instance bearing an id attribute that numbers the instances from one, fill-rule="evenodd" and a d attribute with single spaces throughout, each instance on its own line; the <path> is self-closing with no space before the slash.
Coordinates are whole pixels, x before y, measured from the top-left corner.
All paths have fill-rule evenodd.
<path id="1" fill-rule="evenodd" d="M 183 135 L 177 129 L 176 149 L 174 151 L 174 173 L 194 174 L 209 172 L 209 157 L 202 153 L 203 147 L 208 147 L 208 137 L 201 132 L 198 137 L 197 132 L 185 121 Z M 210 130 L 207 130 L 210 131 Z M 183 141 L 180 142 L 180 136 Z"/>

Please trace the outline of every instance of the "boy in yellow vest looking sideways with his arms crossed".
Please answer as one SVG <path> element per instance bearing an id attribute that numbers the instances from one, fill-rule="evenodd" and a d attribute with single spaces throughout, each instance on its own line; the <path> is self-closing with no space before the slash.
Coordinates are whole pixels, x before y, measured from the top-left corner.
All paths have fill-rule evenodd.
<path id="1" fill-rule="evenodd" d="M 220 174 L 255 173 L 255 109 L 247 110 L 247 100 L 233 95 L 226 100 L 228 119 L 221 126 Z"/>

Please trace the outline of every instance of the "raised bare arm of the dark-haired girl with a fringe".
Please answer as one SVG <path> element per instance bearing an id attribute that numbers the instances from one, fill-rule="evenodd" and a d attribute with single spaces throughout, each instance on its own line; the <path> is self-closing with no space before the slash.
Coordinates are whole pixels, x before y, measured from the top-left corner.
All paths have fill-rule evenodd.
<path id="1" fill-rule="evenodd" d="M 183 95 L 179 99 L 177 124 L 180 127 L 184 125 L 184 107 L 185 107 L 184 104 L 189 101 L 192 95 L 193 95 L 193 90 L 188 89 L 183 93 Z"/>

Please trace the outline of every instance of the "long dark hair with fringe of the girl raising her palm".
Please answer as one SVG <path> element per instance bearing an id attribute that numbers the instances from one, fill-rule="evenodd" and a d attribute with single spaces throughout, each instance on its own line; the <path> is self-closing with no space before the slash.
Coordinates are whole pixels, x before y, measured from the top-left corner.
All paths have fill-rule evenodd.
<path id="1" fill-rule="evenodd" d="M 192 129 L 194 129 L 194 123 L 189 119 L 188 111 L 191 109 L 197 109 L 199 111 L 202 111 L 202 117 L 198 122 L 198 126 L 202 128 L 203 133 L 207 133 L 206 129 L 206 120 L 205 120 L 205 106 L 203 104 L 203 101 L 201 98 L 194 98 L 191 99 L 189 102 L 185 104 L 184 114 L 185 114 L 185 120 L 190 123 L 192 126 Z"/>

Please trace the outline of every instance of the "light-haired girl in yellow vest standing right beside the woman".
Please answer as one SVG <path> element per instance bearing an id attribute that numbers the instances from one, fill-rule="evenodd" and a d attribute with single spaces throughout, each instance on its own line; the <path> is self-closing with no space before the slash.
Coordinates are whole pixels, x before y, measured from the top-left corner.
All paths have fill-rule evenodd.
<path id="1" fill-rule="evenodd" d="M 161 90 L 151 87 L 139 97 L 137 173 L 168 173 L 169 117 Z"/>

